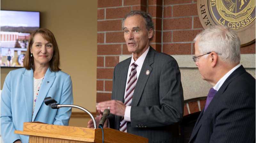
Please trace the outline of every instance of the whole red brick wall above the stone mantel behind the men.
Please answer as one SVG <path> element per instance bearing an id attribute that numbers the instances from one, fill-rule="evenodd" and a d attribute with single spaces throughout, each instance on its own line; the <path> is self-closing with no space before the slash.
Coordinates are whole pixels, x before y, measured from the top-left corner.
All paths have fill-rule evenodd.
<path id="1" fill-rule="evenodd" d="M 193 39 L 203 30 L 196 0 L 98 0 L 97 103 L 111 97 L 119 56 L 131 54 L 122 31 L 122 18 L 131 10 L 151 14 L 155 24 L 151 46 L 166 54 L 194 54 Z M 241 54 L 255 54 L 255 42 L 242 47 Z"/>

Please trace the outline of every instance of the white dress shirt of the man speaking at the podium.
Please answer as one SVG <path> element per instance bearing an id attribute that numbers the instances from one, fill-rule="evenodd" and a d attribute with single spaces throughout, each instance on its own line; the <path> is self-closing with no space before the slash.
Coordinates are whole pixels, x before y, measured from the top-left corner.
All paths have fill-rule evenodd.
<path id="1" fill-rule="evenodd" d="M 137 81 L 139 79 L 139 75 L 140 75 L 140 70 L 142 68 L 142 65 L 143 65 L 143 62 L 148 54 L 148 50 L 149 50 L 149 46 L 148 46 L 148 49 L 136 60 L 134 61 L 133 59 L 133 54 L 132 54 L 132 60 L 131 60 L 131 63 L 129 65 L 129 69 L 128 69 L 128 73 L 127 73 L 127 79 L 126 79 L 126 84 L 125 84 L 125 92 L 124 92 L 124 99 L 125 99 L 125 95 L 126 95 L 126 88 L 127 88 L 127 82 L 128 82 L 128 79 L 129 79 L 129 75 L 131 73 L 131 69 L 132 69 L 132 63 L 136 63 L 138 66 L 136 67 L 136 70 L 137 70 Z M 127 121 L 127 122 L 131 122 L 131 107 L 132 106 L 126 106 L 125 108 L 125 112 L 124 112 L 124 120 Z"/>

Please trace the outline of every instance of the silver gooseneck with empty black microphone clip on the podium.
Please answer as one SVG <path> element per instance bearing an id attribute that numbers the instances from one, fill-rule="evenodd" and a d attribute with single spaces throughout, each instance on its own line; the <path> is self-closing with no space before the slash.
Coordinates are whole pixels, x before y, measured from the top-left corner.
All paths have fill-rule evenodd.
<path id="1" fill-rule="evenodd" d="M 88 110 L 86 110 L 85 108 L 83 108 L 81 106 L 77 106 L 77 105 L 69 105 L 69 104 L 67 104 L 67 105 L 64 105 L 64 104 L 60 105 L 60 104 L 57 104 L 57 103 L 58 102 L 56 100 L 54 100 L 52 97 L 45 97 L 44 98 L 44 104 L 47 105 L 47 106 L 50 106 L 52 109 L 59 109 L 61 107 L 72 107 L 72 108 L 77 108 L 77 109 L 83 110 L 84 112 L 88 113 L 90 115 L 90 117 L 92 118 L 94 129 L 97 128 L 97 124 L 96 124 L 95 118 L 92 116 L 92 113 L 89 112 Z"/>

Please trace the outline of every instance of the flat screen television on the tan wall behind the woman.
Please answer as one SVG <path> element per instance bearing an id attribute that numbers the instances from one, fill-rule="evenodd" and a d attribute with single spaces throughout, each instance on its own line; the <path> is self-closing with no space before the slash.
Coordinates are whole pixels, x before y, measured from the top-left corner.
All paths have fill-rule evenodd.
<path id="1" fill-rule="evenodd" d="M 30 33 L 40 27 L 38 11 L 0 11 L 1 67 L 23 67 Z"/>

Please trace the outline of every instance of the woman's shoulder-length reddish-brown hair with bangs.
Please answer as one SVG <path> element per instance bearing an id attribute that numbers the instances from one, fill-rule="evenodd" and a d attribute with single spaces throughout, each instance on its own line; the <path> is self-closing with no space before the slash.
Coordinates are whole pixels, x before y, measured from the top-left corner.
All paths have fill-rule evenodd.
<path id="1" fill-rule="evenodd" d="M 53 45 L 53 55 L 52 55 L 52 59 L 49 61 L 49 68 L 51 69 L 51 71 L 56 72 L 56 71 L 60 71 L 60 53 L 59 53 L 59 48 L 57 45 L 57 42 L 55 40 L 54 35 L 52 34 L 52 32 L 48 29 L 45 28 L 40 28 L 37 29 L 36 31 L 32 32 L 30 35 L 30 39 L 28 42 L 28 49 L 23 61 L 23 65 L 24 68 L 30 70 L 31 68 L 33 70 L 35 70 L 35 65 L 34 65 L 34 57 L 31 57 L 31 52 L 30 49 L 32 48 L 32 45 L 34 43 L 34 36 L 39 33 L 41 34 L 41 36 L 47 40 L 48 42 L 52 43 Z"/>

